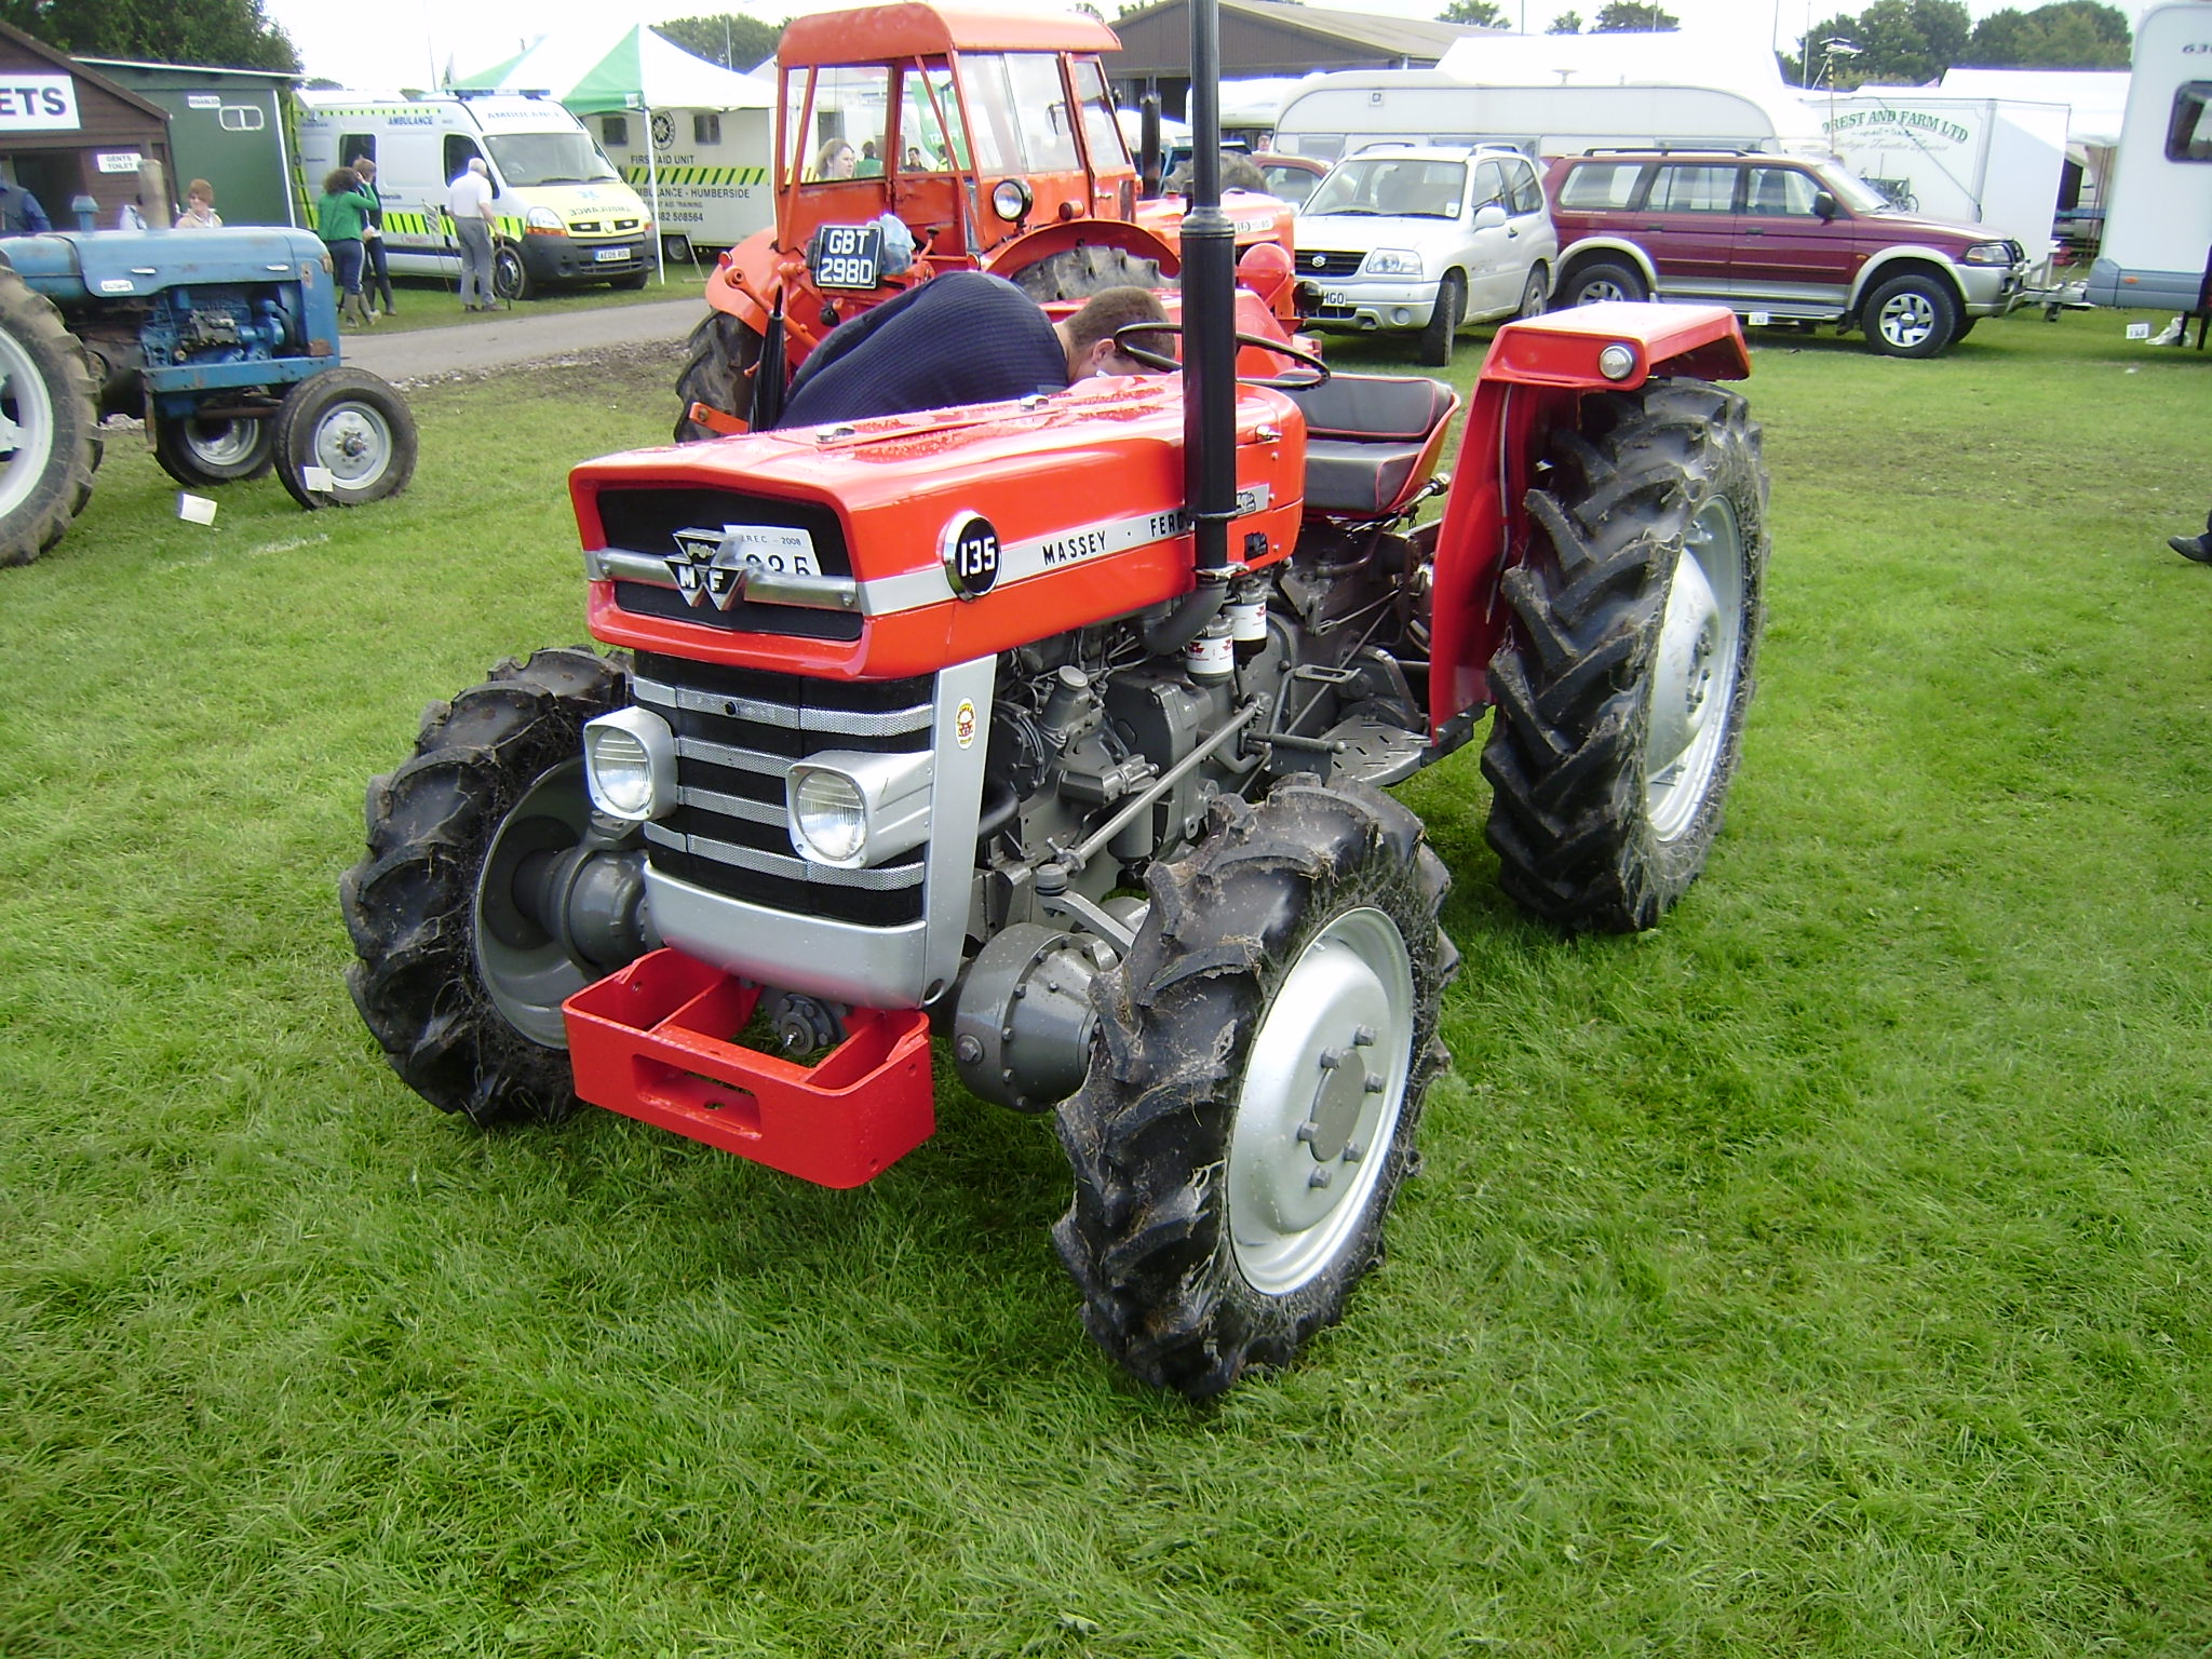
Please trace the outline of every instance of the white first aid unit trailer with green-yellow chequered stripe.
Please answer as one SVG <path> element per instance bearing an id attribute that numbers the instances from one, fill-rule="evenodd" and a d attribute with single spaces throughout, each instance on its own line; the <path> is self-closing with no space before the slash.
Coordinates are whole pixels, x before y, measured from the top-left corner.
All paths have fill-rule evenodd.
<path id="1" fill-rule="evenodd" d="M 584 126 L 622 181 L 659 201 L 661 250 L 681 263 L 692 248 L 734 248 L 774 221 L 772 117 L 770 108 L 655 108 L 586 115 Z"/>

